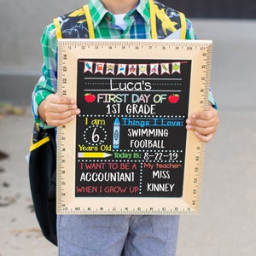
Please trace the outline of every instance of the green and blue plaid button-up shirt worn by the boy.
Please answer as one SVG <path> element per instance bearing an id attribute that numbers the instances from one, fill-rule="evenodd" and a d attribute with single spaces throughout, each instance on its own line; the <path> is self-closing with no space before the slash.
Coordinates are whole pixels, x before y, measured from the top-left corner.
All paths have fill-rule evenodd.
<path id="1" fill-rule="evenodd" d="M 151 38 L 148 0 L 141 0 L 136 9 L 125 15 L 124 20 L 127 25 L 125 31 L 115 25 L 114 16 L 104 8 L 101 1 L 89 0 L 89 7 L 96 38 Z M 195 39 L 192 24 L 189 20 L 186 21 L 186 39 Z M 38 106 L 49 94 L 57 90 L 57 39 L 53 23 L 44 29 L 41 44 L 44 64 L 42 76 L 32 93 L 32 112 L 35 121 L 47 128 L 48 126 L 38 116 Z M 209 100 L 214 104 L 211 91 Z"/>

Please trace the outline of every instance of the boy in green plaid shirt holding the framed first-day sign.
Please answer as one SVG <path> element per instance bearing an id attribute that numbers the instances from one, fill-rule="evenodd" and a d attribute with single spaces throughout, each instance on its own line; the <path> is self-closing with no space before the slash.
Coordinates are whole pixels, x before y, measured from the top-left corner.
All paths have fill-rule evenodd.
<path id="1" fill-rule="evenodd" d="M 164 9 L 163 17 L 161 6 L 152 0 L 89 0 L 91 18 L 85 17 L 91 19 L 95 38 L 154 38 L 154 24 L 150 24 L 154 14 L 162 21 L 161 27 L 157 28 L 158 38 L 195 39 L 189 20 L 170 8 Z M 86 38 L 91 32 L 90 24 L 88 29 L 83 22 L 81 25 L 83 18 L 71 24 L 73 16 L 84 17 L 81 12 L 86 13 L 85 8 L 59 17 L 46 27 L 42 37 L 43 75 L 33 91 L 32 110 L 36 122 L 44 128 L 65 125 L 80 113 L 73 98 L 58 96 L 55 92 L 57 38 Z M 166 19 L 167 13 L 171 21 Z M 210 91 L 209 109 L 192 113 L 186 120 L 187 129 L 195 131 L 195 136 L 203 142 L 209 142 L 217 130 L 218 112 L 212 106 L 215 102 Z M 178 216 L 58 216 L 59 255 L 172 256 L 176 251 L 178 221 Z"/>

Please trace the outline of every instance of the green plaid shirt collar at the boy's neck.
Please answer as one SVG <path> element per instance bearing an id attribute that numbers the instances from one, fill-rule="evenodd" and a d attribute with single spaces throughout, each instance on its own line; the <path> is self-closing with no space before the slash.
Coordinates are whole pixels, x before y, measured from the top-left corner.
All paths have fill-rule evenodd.
<path id="1" fill-rule="evenodd" d="M 111 18 L 113 17 L 113 15 L 108 12 L 108 9 L 105 9 L 100 0 L 89 0 L 88 2 L 90 8 L 90 15 L 94 27 L 99 26 L 105 15 L 108 15 Z M 140 14 L 143 17 L 145 24 L 148 24 L 150 22 L 148 0 L 140 0 L 137 7 L 135 9 L 132 9 L 127 15 L 135 15 L 136 13 Z"/>

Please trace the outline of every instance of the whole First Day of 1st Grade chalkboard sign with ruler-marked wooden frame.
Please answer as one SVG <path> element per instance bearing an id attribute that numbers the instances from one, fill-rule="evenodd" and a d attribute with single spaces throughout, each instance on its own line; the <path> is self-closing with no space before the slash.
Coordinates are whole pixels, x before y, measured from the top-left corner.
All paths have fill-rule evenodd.
<path id="1" fill-rule="evenodd" d="M 199 212 L 211 41 L 60 40 L 58 93 L 81 113 L 58 128 L 61 214 Z"/>

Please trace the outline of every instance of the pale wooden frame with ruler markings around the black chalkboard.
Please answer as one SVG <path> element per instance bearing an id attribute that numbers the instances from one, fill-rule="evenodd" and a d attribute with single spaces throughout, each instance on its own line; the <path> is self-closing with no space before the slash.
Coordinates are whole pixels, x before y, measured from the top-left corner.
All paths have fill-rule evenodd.
<path id="1" fill-rule="evenodd" d="M 58 42 L 58 94 L 77 96 L 78 60 L 190 60 L 188 115 L 208 108 L 212 41 L 61 39 Z M 183 195 L 163 197 L 76 197 L 76 120 L 57 131 L 58 214 L 198 214 L 200 212 L 204 143 L 187 131 Z"/>

